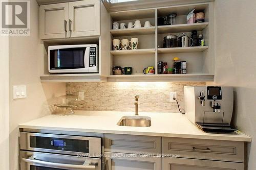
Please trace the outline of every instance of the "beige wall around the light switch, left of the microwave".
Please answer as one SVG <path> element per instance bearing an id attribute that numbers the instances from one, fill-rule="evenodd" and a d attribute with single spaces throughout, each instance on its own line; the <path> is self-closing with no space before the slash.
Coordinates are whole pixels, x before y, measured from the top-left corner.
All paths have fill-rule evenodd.
<path id="1" fill-rule="evenodd" d="M 40 58 L 44 56 L 44 45 L 39 40 L 38 5 L 35 0 L 30 3 L 31 35 L 9 38 L 11 170 L 18 169 L 18 124 L 50 114 L 47 100 L 65 94 L 65 83 L 40 83 L 39 72 L 43 64 Z M 13 85 L 27 85 L 28 97 L 13 100 Z"/>

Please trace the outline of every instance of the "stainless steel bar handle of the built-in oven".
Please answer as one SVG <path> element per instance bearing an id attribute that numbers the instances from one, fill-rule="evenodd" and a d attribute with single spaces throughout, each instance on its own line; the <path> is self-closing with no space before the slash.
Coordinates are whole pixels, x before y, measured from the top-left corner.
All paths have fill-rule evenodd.
<path id="1" fill-rule="evenodd" d="M 54 166 L 57 168 L 75 168 L 75 169 L 96 169 L 95 165 L 84 165 L 86 162 L 83 163 L 83 165 L 74 165 L 74 164 L 65 164 L 65 163 L 55 163 L 55 162 L 46 162 L 42 160 L 36 160 L 34 157 L 30 158 L 22 158 L 23 161 L 28 162 L 28 163 L 37 163 L 40 165 L 49 165 L 49 166 Z"/>

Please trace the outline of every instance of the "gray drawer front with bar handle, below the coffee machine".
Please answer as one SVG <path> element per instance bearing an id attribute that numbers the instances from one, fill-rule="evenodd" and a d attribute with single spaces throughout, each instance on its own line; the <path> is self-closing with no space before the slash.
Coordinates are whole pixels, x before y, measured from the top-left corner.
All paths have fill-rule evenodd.
<path id="1" fill-rule="evenodd" d="M 244 162 L 244 142 L 163 137 L 163 155 Z"/>

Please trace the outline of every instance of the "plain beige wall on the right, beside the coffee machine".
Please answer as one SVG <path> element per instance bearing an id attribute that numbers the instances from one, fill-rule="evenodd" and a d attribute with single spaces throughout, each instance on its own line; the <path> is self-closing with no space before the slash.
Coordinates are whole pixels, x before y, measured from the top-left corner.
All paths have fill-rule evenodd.
<path id="1" fill-rule="evenodd" d="M 256 1 L 216 0 L 215 81 L 234 87 L 235 122 L 252 137 L 248 169 L 256 169 Z"/>

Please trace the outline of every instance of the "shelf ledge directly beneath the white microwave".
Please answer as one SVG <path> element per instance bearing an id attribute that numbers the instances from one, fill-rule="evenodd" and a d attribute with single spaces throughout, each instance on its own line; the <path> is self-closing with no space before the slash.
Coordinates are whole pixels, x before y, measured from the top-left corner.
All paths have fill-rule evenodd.
<path id="1" fill-rule="evenodd" d="M 102 82 L 107 81 L 107 77 L 99 74 L 61 74 L 42 75 L 41 82 Z"/>

